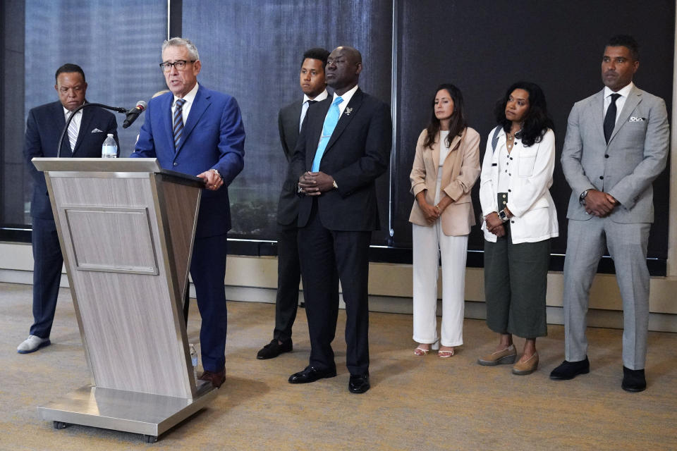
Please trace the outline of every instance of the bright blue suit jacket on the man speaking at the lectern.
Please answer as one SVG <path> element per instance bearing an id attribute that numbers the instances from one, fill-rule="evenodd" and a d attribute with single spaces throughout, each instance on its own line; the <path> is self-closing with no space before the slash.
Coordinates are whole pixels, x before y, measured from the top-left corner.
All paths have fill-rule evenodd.
<path id="1" fill-rule="evenodd" d="M 160 166 L 188 175 L 216 169 L 224 179 L 219 190 L 202 192 L 195 236 L 223 235 L 231 228 L 228 185 L 242 171 L 245 128 L 238 102 L 228 94 L 197 89 L 178 149 L 174 148 L 171 104 L 173 94 L 155 97 L 148 104 L 132 157 L 157 158 Z"/>

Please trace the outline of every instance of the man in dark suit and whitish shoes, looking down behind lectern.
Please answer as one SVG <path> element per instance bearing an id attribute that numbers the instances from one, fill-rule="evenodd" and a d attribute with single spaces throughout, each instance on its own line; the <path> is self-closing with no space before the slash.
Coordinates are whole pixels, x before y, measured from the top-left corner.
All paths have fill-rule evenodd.
<path id="1" fill-rule="evenodd" d="M 56 93 L 59 101 L 31 109 L 26 121 L 26 137 L 23 154 L 28 164 L 28 173 L 33 179 L 33 197 L 30 204 L 32 216 L 33 250 L 33 324 L 30 335 L 18 347 L 19 354 L 35 352 L 50 344 L 49 333 L 54 322 L 56 298 L 59 296 L 63 256 L 59 235 L 51 212 L 44 174 L 37 171 L 30 161 L 39 156 L 56 156 L 56 147 L 66 119 L 73 110 L 84 104 L 87 82 L 80 66 L 64 64 L 56 70 Z M 106 135 L 112 133 L 118 141 L 118 125 L 115 116 L 97 106 L 75 113 L 68 133 L 61 144 L 61 157 L 97 158 Z M 119 146 L 118 146 L 119 147 Z M 119 149 L 118 149 L 119 154 Z"/>

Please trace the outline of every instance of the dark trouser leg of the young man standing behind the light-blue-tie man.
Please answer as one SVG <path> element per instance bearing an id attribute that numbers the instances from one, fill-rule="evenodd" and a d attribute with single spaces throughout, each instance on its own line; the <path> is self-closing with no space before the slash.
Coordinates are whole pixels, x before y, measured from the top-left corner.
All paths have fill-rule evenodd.
<path id="1" fill-rule="evenodd" d="M 275 298 L 275 330 L 273 338 L 291 339 L 291 328 L 298 309 L 298 282 L 301 268 L 298 259 L 296 223 L 277 226 L 277 297 Z"/>

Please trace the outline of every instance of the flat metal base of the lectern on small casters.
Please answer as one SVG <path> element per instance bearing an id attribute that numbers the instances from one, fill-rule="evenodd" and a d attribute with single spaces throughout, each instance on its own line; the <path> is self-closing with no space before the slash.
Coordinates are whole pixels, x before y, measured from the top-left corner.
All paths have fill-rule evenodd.
<path id="1" fill-rule="evenodd" d="M 154 442 L 157 436 L 205 407 L 216 397 L 211 383 L 198 385 L 193 399 L 150 395 L 85 385 L 68 395 L 37 408 L 42 419 L 54 421 L 54 428 L 82 424 L 144 435 Z"/>

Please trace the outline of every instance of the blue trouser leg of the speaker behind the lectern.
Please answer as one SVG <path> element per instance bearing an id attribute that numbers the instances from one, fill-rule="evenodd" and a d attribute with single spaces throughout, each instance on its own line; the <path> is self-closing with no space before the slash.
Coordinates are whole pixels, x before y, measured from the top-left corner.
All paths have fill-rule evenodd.
<path id="1" fill-rule="evenodd" d="M 196 237 L 190 276 L 195 284 L 197 308 L 202 316 L 200 347 L 202 366 L 207 371 L 221 371 L 226 363 L 226 311 L 227 235 Z"/>

